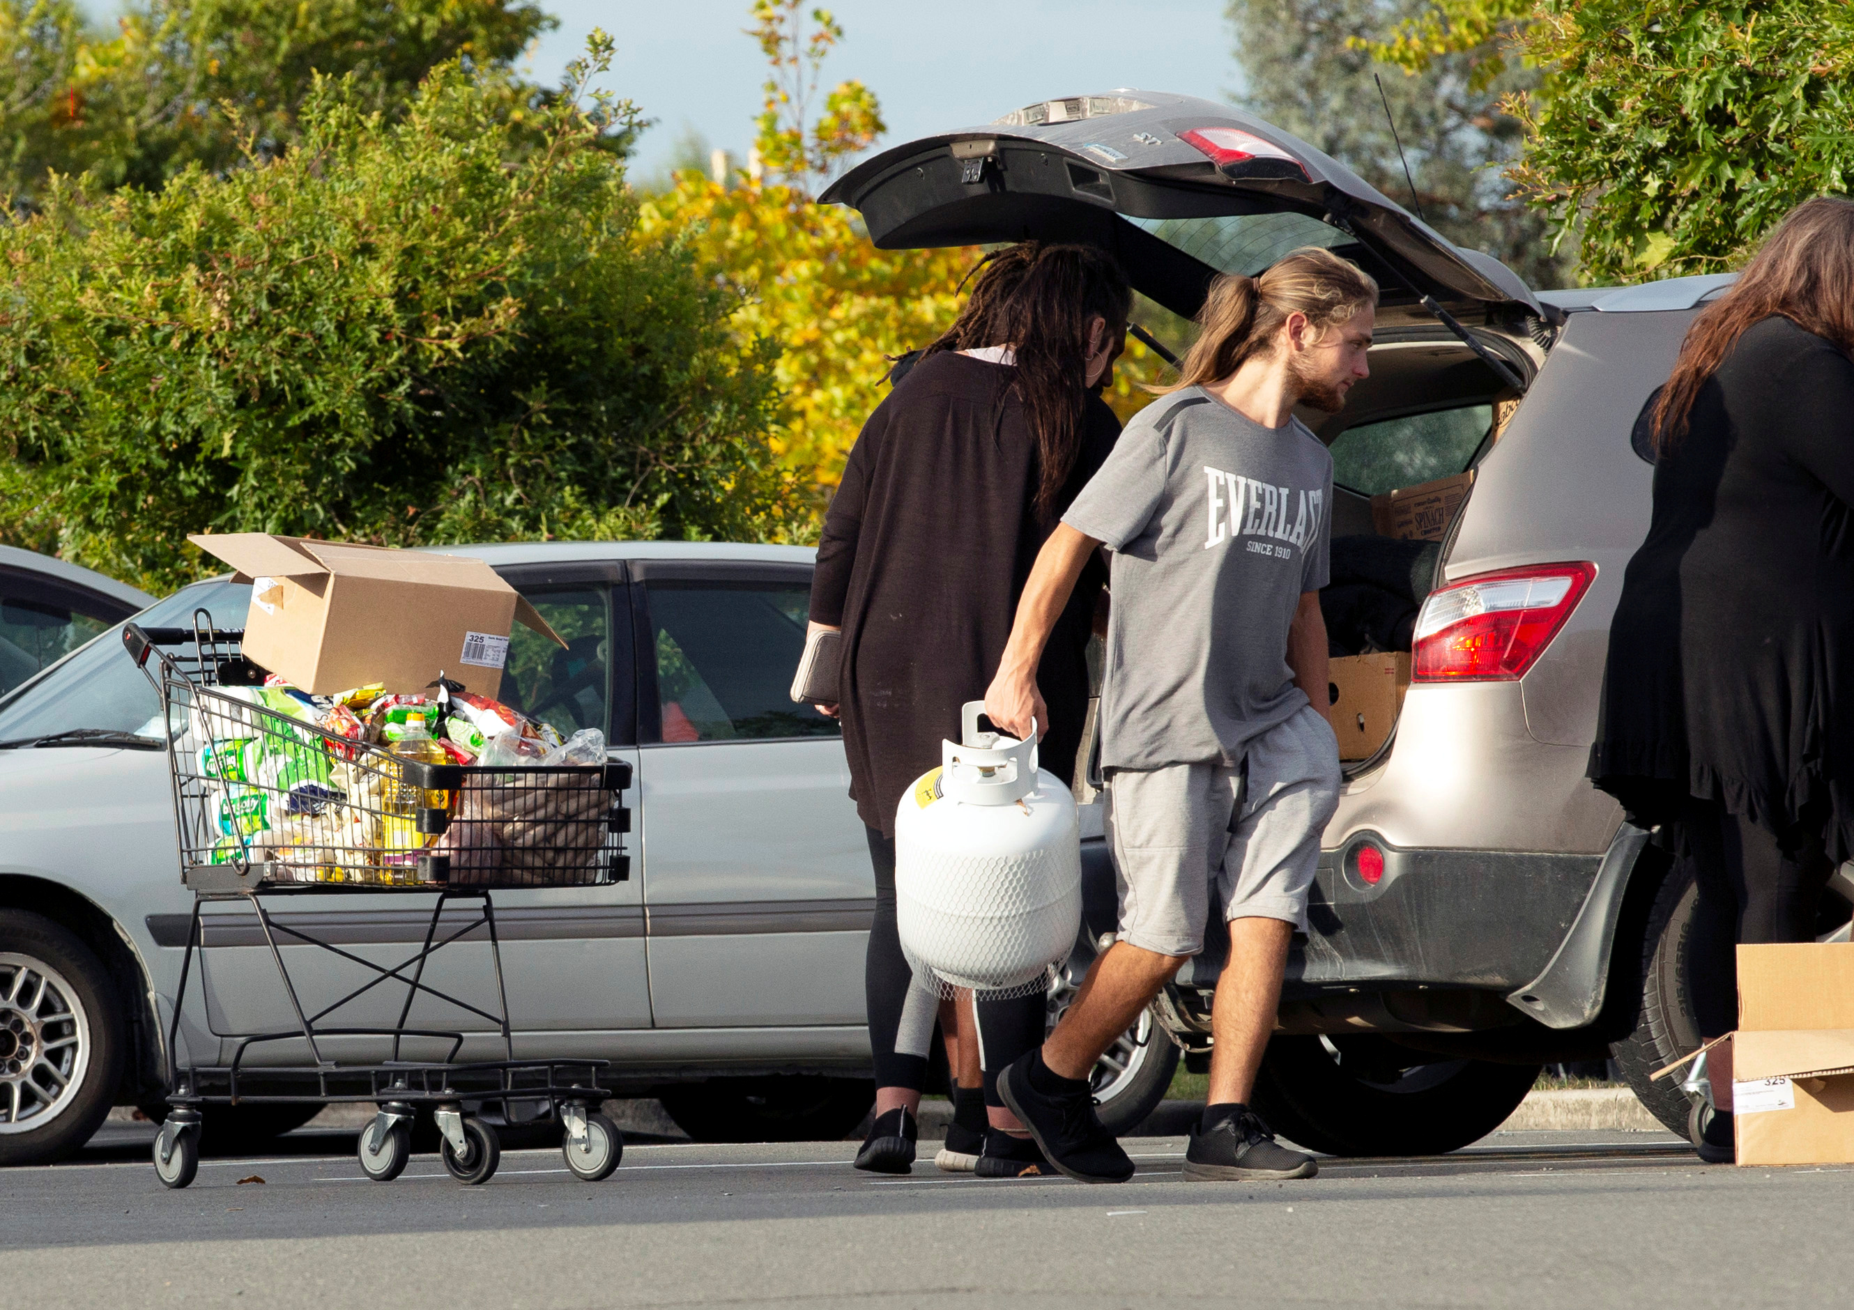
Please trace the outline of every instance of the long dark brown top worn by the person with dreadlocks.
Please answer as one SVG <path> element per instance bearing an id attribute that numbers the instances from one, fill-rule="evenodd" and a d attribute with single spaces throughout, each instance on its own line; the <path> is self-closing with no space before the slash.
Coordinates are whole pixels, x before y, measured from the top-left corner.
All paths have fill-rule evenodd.
<path id="1" fill-rule="evenodd" d="M 894 836 L 901 793 L 959 739 L 984 697 L 1044 539 L 1036 443 L 1014 369 L 953 352 L 921 359 L 862 426 L 825 515 L 810 617 L 844 628 L 840 691 L 849 795 Z M 1057 502 L 1101 467 L 1120 424 L 1090 398 L 1081 454 Z M 1086 647 L 1107 578 L 1088 561 L 1044 650 L 1040 763 L 1072 780 L 1088 712 Z"/>

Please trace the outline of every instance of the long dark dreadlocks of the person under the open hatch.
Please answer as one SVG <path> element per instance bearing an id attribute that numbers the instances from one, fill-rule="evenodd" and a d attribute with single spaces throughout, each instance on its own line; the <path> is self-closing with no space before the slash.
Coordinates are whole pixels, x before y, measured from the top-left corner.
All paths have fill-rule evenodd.
<path id="1" fill-rule="evenodd" d="M 1107 341 L 1127 335 L 1133 289 L 1105 250 L 1020 241 L 988 256 L 966 308 L 927 354 L 1010 346 L 1012 389 L 1036 441 L 1036 515 L 1055 517 L 1055 500 L 1075 469 L 1088 404 L 1088 321 L 1107 321 Z"/>

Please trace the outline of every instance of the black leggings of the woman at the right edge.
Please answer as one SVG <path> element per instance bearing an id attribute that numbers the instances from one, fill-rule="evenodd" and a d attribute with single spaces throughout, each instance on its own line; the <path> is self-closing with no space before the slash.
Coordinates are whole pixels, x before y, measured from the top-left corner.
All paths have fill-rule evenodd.
<path id="1" fill-rule="evenodd" d="M 1693 865 L 1698 901 L 1689 947 L 1693 1012 L 1702 1038 L 1737 1027 L 1737 943 L 1815 941 L 1815 913 L 1834 865 L 1821 825 L 1780 841 L 1715 800 L 1689 797 L 1680 812 L 1680 856 Z"/>

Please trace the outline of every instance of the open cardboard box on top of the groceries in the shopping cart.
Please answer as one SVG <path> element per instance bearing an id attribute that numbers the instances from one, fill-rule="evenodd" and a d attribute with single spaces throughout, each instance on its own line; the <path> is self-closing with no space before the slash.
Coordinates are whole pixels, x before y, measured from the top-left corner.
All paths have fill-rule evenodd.
<path id="1" fill-rule="evenodd" d="M 515 619 L 560 641 L 482 560 L 267 532 L 187 541 L 252 584 L 247 658 L 317 695 L 369 682 L 425 691 L 443 673 L 495 697 Z"/>

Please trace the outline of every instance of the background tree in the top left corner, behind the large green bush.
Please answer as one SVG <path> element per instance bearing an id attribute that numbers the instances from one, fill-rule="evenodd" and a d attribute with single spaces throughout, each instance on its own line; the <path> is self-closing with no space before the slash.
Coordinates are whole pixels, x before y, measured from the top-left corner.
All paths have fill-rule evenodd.
<path id="1" fill-rule="evenodd" d="M 156 187 L 189 163 L 274 154 L 317 72 L 350 78 L 350 102 L 391 119 L 460 59 L 519 124 L 545 94 L 510 65 L 552 26 L 530 0 L 130 0 L 106 33 L 76 0 L 0 0 L 0 193 L 32 202 L 50 170 Z"/>

